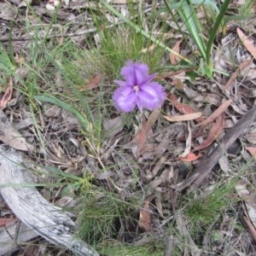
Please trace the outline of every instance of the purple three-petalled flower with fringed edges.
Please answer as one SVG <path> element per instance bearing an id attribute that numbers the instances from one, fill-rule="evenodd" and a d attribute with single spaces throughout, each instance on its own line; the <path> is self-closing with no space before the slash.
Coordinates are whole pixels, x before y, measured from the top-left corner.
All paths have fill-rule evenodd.
<path id="1" fill-rule="evenodd" d="M 146 64 L 127 61 L 122 67 L 121 75 L 125 81 L 114 80 L 120 87 L 113 92 L 113 102 L 116 108 L 123 112 L 131 112 L 136 106 L 153 110 L 159 108 L 166 99 L 162 85 L 151 82 L 156 73 L 149 75 Z"/>

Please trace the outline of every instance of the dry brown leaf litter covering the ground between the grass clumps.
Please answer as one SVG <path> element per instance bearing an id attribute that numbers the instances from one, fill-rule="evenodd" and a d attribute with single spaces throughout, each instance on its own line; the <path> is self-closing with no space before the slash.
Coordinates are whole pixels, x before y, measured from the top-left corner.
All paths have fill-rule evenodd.
<path id="1" fill-rule="evenodd" d="M 90 19 L 90 13 L 84 12 L 89 15 L 85 25 L 79 17 L 81 10 L 89 8 L 89 3 L 67 2 L 69 1 L 61 2 L 62 7 L 56 15 L 58 24 L 52 26 L 49 38 L 50 40 L 61 38 L 57 43 L 62 44 L 64 38 L 73 36 L 72 40 L 75 44 L 87 49 L 86 37 L 88 33 L 96 32 L 96 29 L 93 19 Z M 22 4 L 21 0 L 9 3 L 13 9 L 9 11 L 13 11 L 18 17 L 15 20 L 17 26 L 13 27 L 12 31 L 14 51 L 17 53 L 20 50 L 27 52 L 30 46 L 29 40 L 34 36 L 33 32 L 26 34 L 23 16 L 20 15 L 20 12 L 25 10 Z M 91 3 L 90 8 L 94 7 L 94 3 Z M 15 13 L 17 8 L 18 14 Z M 44 2 L 38 5 L 32 1 L 32 9 L 36 10 L 42 20 L 49 20 L 50 8 L 46 9 Z M 123 6 L 122 9 L 124 10 Z M 13 18 L 8 13 L 2 15 L 5 22 L 15 19 L 15 15 Z M 67 20 L 70 20 L 68 24 Z M 108 20 L 113 20 L 113 17 L 108 16 Z M 47 32 L 46 26 L 37 24 L 37 20 L 34 20 L 32 15 L 27 15 L 26 22 L 38 26 L 44 38 Z M 61 26 L 67 27 L 69 34 L 60 33 Z M 3 31 L 0 32 L 0 40 L 8 42 L 9 38 Z M 88 147 L 90 141 L 81 133 L 78 119 L 63 109 L 44 104 L 36 113 L 35 119 L 32 119 L 24 96 L 15 94 L 11 84 L 11 82 L 14 82 L 15 86 L 18 84 L 15 79 L 9 82 L 7 90 L 3 90 L 3 101 L 0 102 L 4 108 L 3 127 L 0 129 L 3 135 L 0 139 L 11 148 L 24 151 L 27 157 L 39 165 L 56 168 L 62 173 L 76 177 L 86 177 L 86 175 L 92 177 L 92 194 L 106 189 L 108 192 L 115 193 L 120 201 L 126 201 L 128 204 L 130 200 L 137 200 L 134 211 L 136 214 L 132 216 L 132 221 L 131 216 L 124 216 L 123 223 L 120 224 L 122 228 L 116 230 L 119 242 L 129 241 L 130 244 L 147 245 L 147 236 L 153 237 L 151 241 L 148 240 L 151 243 L 159 242 L 158 239 L 162 242 L 168 232 L 168 225 L 173 224 L 183 238 L 183 254 L 200 255 L 204 250 L 202 244 L 205 246 L 206 243 L 205 241 L 200 243 L 191 236 L 189 221 L 182 211 L 183 196 L 188 195 L 191 190 L 204 192 L 216 183 L 216 177 L 225 179 L 232 172 L 236 172 L 233 169 L 229 170 L 231 167 L 224 165 L 224 162 L 219 165 L 221 170 L 226 172 L 214 169 L 216 164 L 221 162 L 220 158 L 224 154 L 226 161 L 235 157 L 234 154 L 228 153 L 228 149 L 236 138 L 240 139 L 242 148 L 247 148 L 251 152 L 256 145 L 255 107 L 253 107 L 256 98 L 253 61 L 255 47 L 252 44 L 253 40 L 245 34 L 249 33 L 241 32 L 238 28 L 236 32 L 227 32 L 223 38 L 219 35 L 218 48 L 212 52 L 213 67 L 225 74 L 230 74 L 229 78 L 220 73 L 214 73 L 212 80 L 200 77 L 191 80 L 188 72 L 194 72 L 194 68 L 160 73 L 158 79 L 168 88 L 169 93 L 168 100 L 161 110 L 163 114 L 160 109 L 152 113 L 145 111 L 133 116 L 129 125 L 125 123 L 124 116 L 119 113 L 111 112 L 108 118 L 103 117 L 104 140 L 99 143 L 101 148 L 96 151 L 97 154 Z M 20 35 L 22 35 L 21 38 L 18 38 Z M 246 49 L 238 44 L 238 37 L 241 38 Z M 177 38 L 181 38 L 180 35 L 177 35 Z M 190 54 L 190 49 L 189 51 L 184 49 L 181 44 L 182 40 L 175 39 L 172 43 L 172 45 L 176 44 L 173 48 L 176 52 L 186 56 Z M 155 46 L 151 44 L 143 51 L 154 53 Z M 194 48 L 193 44 L 191 46 Z M 230 52 L 232 61 L 230 61 Z M 167 55 L 168 58 L 173 65 L 179 61 L 174 55 Z M 28 71 L 24 69 L 22 63 L 19 65 L 20 70 L 15 73 L 15 76 L 26 81 Z M 83 87 L 78 87 L 79 90 L 89 89 L 96 92 L 103 75 L 98 71 L 92 74 L 91 77 L 86 78 Z M 43 82 L 41 81 L 42 84 Z M 56 80 L 57 84 L 61 82 L 60 78 Z M 13 106 L 9 105 L 11 97 L 17 98 Z M 108 107 L 106 109 L 108 110 Z M 170 121 L 175 123 L 172 124 Z M 40 131 L 40 139 L 43 139 L 44 145 L 40 143 L 37 131 Z M 246 150 L 241 150 L 239 160 L 246 160 L 246 156 L 250 156 L 251 160 L 253 158 Z M 236 157 L 238 158 L 237 155 Z M 52 184 L 56 180 L 54 177 L 46 177 L 46 182 Z M 74 201 L 80 191 L 72 188 L 69 194 L 65 195 L 67 193 L 65 182 L 63 186 L 54 188 L 45 186 L 40 192 L 50 201 L 59 201 L 60 204 L 61 199 L 67 198 L 74 207 Z M 182 193 L 181 190 L 183 190 Z M 247 203 L 247 199 L 242 196 L 241 201 Z M 251 207 L 254 207 L 252 201 L 241 206 L 241 217 L 254 238 L 254 213 Z M 201 228 L 201 236 L 207 239 L 207 232 L 203 229 L 204 227 Z M 218 225 L 214 226 L 214 229 L 217 229 L 216 232 L 219 231 L 222 237 L 228 237 Z M 14 236 L 13 230 L 9 232 Z M 113 237 L 108 238 L 113 239 Z M 166 253 L 169 254 L 177 248 L 177 245 L 181 246 L 175 234 L 168 236 L 167 242 L 170 242 L 166 246 Z M 230 246 L 236 249 L 239 247 L 232 241 Z M 219 252 L 222 252 L 223 247 L 219 246 L 219 248 Z M 37 248 L 30 247 L 30 252 L 37 252 Z M 240 253 L 244 254 L 244 252 Z"/>

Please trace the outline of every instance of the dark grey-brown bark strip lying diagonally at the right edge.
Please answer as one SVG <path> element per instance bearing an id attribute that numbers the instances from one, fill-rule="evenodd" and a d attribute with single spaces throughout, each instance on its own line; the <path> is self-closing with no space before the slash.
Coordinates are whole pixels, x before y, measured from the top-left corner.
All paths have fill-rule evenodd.
<path id="1" fill-rule="evenodd" d="M 239 121 L 232 127 L 223 138 L 223 141 L 212 151 L 212 154 L 205 155 L 198 166 L 195 168 L 195 173 L 187 178 L 183 183 L 173 185 L 172 188 L 176 191 L 181 191 L 189 186 L 191 189 L 198 188 L 203 180 L 212 171 L 212 168 L 218 163 L 218 160 L 227 152 L 230 146 L 235 143 L 245 130 L 256 119 L 256 105 L 253 106 Z"/>

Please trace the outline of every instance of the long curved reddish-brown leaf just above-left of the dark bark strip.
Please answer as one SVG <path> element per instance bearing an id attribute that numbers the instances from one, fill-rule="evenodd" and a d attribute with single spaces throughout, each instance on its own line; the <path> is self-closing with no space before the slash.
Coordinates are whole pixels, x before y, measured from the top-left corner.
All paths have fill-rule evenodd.
<path id="1" fill-rule="evenodd" d="M 209 147 L 221 134 L 222 130 L 224 128 L 224 115 L 220 115 L 218 119 L 216 119 L 216 122 L 213 123 L 211 130 L 209 131 L 209 135 L 206 138 L 206 140 L 201 143 L 199 146 L 195 147 L 192 152 L 195 150 L 201 150 L 204 148 Z"/>

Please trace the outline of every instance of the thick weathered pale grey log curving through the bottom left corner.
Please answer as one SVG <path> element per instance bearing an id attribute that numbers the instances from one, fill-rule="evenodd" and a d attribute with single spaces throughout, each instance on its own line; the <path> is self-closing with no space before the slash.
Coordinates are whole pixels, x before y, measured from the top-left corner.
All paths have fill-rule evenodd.
<path id="1" fill-rule="evenodd" d="M 98 256 L 94 248 L 75 236 L 73 214 L 51 205 L 38 189 L 26 186 L 35 183 L 31 168 L 32 164 L 23 160 L 20 154 L 0 147 L 0 192 L 9 208 L 22 223 L 49 242 L 61 245 L 75 255 Z M 0 247 L 2 242 L 0 237 Z"/>

